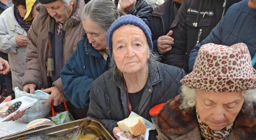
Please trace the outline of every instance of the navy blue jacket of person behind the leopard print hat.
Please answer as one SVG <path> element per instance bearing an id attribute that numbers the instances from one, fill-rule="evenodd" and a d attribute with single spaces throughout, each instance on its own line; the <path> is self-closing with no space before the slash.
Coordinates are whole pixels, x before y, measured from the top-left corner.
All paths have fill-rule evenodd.
<path id="1" fill-rule="evenodd" d="M 206 43 L 226 46 L 245 43 L 253 58 L 256 52 L 256 10 L 249 8 L 248 2 L 249 0 L 243 0 L 232 5 L 206 39 L 194 47 L 190 53 L 190 71 L 193 70 L 199 48 Z M 255 69 L 256 65 L 253 67 Z"/>

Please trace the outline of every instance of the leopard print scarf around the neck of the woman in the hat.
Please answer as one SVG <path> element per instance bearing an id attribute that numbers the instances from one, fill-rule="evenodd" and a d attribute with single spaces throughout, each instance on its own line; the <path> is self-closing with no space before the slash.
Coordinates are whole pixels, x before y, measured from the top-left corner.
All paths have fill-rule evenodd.
<path id="1" fill-rule="evenodd" d="M 225 127 L 222 130 L 217 130 L 214 131 L 210 127 L 207 126 L 207 124 L 204 124 L 200 117 L 199 114 L 196 111 L 196 117 L 199 122 L 199 129 L 202 137 L 204 137 L 206 140 L 227 140 L 228 135 L 230 134 L 230 131 L 232 130 L 233 123 L 230 124 L 229 126 Z"/>

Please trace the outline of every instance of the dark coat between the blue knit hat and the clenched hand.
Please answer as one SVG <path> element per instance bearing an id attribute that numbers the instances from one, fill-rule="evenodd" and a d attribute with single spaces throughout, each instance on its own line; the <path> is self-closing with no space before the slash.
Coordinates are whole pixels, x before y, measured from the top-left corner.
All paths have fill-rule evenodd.
<path id="1" fill-rule="evenodd" d="M 157 6 L 149 19 L 149 28 L 152 32 L 153 49 L 157 49 L 157 39 L 170 31 L 172 22 L 175 19 L 180 4 L 172 0 L 166 0 L 162 5 Z"/>

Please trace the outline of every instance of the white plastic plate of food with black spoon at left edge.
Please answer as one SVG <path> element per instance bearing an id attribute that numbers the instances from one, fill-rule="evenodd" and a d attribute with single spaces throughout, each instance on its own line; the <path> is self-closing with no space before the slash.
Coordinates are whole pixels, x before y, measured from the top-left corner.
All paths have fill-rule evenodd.
<path id="1" fill-rule="evenodd" d="M 30 98 L 30 97 L 27 97 L 27 96 L 23 96 L 23 97 L 20 97 L 20 98 L 16 98 L 14 100 L 11 100 L 11 101 L 8 101 L 8 102 L 5 102 L 5 103 L 1 103 L 0 104 L 0 108 L 2 108 L 3 106 L 6 106 L 6 103 L 15 103 L 17 101 L 21 101 L 21 106 L 19 107 L 19 109 L 17 111 L 22 111 L 23 109 L 27 109 L 29 108 L 30 106 L 32 106 L 37 100 L 36 99 L 33 99 L 33 98 Z M 0 116 L 0 122 L 2 121 L 5 121 L 6 119 L 8 119 L 9 117 L 11 117 L 13 114 L 16 114 L 16 112 L 13 112 L 11 114 L 9 114 L 7 117 L 2 117 Z"/>

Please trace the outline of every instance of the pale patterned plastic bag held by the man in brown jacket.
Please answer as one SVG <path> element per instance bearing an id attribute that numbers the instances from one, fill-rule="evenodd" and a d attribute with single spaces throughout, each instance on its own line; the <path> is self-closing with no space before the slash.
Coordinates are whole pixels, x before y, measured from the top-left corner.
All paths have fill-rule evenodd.
<path id="1" fill-rule="evenodd" d="M 25 114 L 19 119 L 20 121 L 31 122 L 35 119 L 41 119 L 44 118 L 51 111 L 50 106 L 45 106 L 45 103 L 50 95 L 26 93 L 19 90 L 18 87 L 15 87 L 14 92 L 16 98 L 27 96 L 38 100 L 33 106 L 26 109 Z"/>

